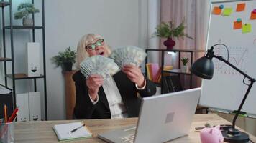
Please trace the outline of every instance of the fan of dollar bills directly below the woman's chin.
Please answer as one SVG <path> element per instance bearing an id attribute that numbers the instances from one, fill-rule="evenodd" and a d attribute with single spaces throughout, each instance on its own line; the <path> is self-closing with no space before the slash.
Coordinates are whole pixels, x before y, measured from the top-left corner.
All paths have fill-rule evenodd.
<path id="1" fill-rule="evenodd" d="M 83 60 L 80 64 L 80 68 L 86 79 L 92 74 L 99 74 L 106 79 L 120 70 L 113 59 L 99 55 L 91 56 Z"/>

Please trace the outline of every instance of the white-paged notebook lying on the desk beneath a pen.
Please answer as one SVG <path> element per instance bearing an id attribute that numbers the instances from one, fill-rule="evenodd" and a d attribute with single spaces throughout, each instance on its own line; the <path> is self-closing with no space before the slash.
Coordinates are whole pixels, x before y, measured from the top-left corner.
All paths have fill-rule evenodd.
<path id="1" fill-rule="evenodd" d="M 86 128 L 86 126 L 81 127 L 82 125 L 83 124 L 81 122 L 55 124 L 53 130 L 55 131 L 55 134 L 57 134 L 59 141 L 92 137 L 91 132 Z M 77 129 L 76 132 L 73 132 L 71 134 L 69 133 L 70 131 L 78 127 L 81 128 Z"/>

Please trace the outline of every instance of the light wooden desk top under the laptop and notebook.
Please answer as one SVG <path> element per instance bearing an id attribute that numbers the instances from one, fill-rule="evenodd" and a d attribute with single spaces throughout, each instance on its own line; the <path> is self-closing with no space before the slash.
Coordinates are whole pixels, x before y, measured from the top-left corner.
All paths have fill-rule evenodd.
<path id="1" fill-rule="evenodd" d="M 68 122 L 78 122 L 79 120 L 66 121 L 44 121 L 44 122 L 17 122 L 15 123 L 14 138 L 15 142 L 58 142 L 55 133 L 52 130 L 54 124 L 63 124 Z M 96 136 L 100 132 L 108 131 L 109 129 L 116 129 L 119 127 L 126 127 L 128 125 L 136 124 L 137 118 L 127 119 L 90 119 L 83 120 L 87 127 L 93 132 L 93 137 L 90 139 L 78 140 L 73 142 L 104 142 Z M 195 132 L 195 127 L 203 127 L 206 122 L 210 124 L 230 124 L 227 120 L 219 117 L 216 114 L 196 114 L 193 118 L 191 131 L 188 136 L 174 139 L 171 142 L 201 142 L 199 132 Z M 250 134 L 250 139 L 256 142 L 256 137 Z"/>

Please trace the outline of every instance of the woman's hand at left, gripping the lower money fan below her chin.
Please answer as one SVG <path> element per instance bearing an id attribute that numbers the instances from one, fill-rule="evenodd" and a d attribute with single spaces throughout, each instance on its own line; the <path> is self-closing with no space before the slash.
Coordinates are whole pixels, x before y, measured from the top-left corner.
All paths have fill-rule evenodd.
<path id="1" fill-rule="evenodd" d="M 93 101 L 96 101 L 96 97 L 99 92 L 99 87 L 102 86 L 104 79 L 97 74 L 91 75 L 88 79 L 86 79 L 86 85 L 88 87 L 88 94 L 90 95 Z"/>

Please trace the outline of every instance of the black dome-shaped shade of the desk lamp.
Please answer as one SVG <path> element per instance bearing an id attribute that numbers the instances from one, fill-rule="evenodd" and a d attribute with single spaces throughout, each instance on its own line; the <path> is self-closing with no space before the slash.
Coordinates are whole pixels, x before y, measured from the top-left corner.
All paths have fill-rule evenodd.
<path id="1" fill-rule="evenodd" d="M 196 60 L 191 66 L 191 72 L 203 79 L 212 79 L 214 75 L 214 63 L 206 56 Z"/>

